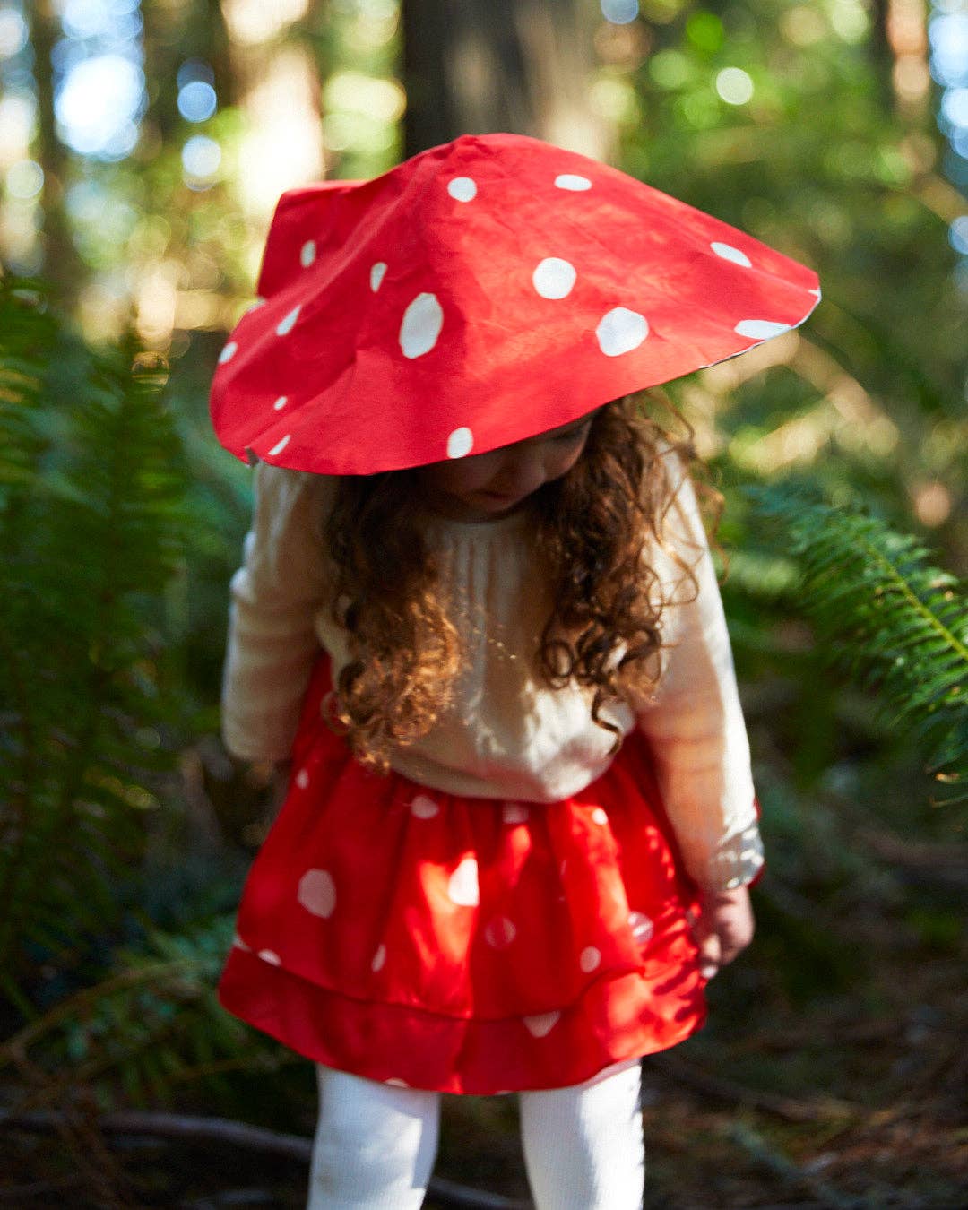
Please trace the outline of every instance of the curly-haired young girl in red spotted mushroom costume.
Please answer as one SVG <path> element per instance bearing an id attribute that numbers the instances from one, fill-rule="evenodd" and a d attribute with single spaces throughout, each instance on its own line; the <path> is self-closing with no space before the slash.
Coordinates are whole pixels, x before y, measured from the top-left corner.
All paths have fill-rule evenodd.
<path id="1" fill-rule="evenodd" d="M 634 392 L 816 277 L 582 156 L 465 137 L 286 195 L 220 357 L 257 463 L 224 732 L 287 793 L 225 1006 L 315 1060 L 310 1206 L 424 1198 L 520 1094 L 541 1210 L 641 1204 L 641 1055 L 750 940 L 749 749 L 687 463 Z"/>

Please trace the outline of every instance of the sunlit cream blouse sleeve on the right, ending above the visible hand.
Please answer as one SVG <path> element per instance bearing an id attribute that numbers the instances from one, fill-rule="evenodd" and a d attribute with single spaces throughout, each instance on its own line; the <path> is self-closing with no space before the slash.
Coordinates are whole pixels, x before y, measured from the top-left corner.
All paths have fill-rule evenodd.
<path id="1" fill-rule="evenodd" d="M 655 569 L 667 601 L 663 674 L 638 722 L 686 869 L 699 886 L 726 891 L 756 877 L 762 843 L 715 569 L 688 476 L 681 466 L 674 476 L 679 484 L 666 518 L 667 548 L 657 552 Z M 696 587 L 670 549 L 691 569 Z"/>

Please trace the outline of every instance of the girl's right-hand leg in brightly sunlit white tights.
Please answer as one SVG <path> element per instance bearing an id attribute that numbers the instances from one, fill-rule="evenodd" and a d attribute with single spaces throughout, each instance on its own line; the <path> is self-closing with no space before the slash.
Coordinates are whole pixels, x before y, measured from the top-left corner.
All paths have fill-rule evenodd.
<path id="1" fill-rule="evenodd" d="M 538 1210 L 640 1210 L 645 1146 L 638 1061 L 588 1084 L 522 1093 L 522 1142 Z"/>

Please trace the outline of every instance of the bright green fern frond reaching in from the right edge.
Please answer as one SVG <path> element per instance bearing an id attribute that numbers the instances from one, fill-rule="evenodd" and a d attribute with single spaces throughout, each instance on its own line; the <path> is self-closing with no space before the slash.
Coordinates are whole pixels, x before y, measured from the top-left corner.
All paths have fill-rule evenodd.
<path id="1" fill-rule="evenodd" d="M 877 693 L 894 726 L 927 749 L 928 770 L 958 790 L 968 777 L 968 609 L 961 582 L 914 535 L 783 488 L 749 496 L 782 528 L 801 582 L 796 600 L 830 650 Z M 947 801 L 952 801 L 951 797 Z"/>

